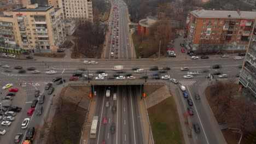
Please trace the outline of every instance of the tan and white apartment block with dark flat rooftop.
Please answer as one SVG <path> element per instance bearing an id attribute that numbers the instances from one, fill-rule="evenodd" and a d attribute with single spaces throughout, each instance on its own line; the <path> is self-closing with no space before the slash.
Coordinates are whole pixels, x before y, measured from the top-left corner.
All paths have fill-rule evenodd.
<path id="1" fill-rule="evenodd" d="M 66 40 L 61 8 L 30 4 L 13 10 L 12 15 L 15 41 L 23 50 L 57 51 Z"/>

